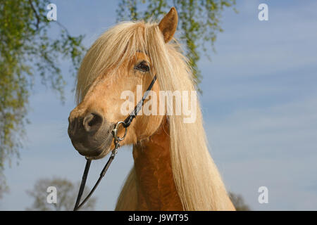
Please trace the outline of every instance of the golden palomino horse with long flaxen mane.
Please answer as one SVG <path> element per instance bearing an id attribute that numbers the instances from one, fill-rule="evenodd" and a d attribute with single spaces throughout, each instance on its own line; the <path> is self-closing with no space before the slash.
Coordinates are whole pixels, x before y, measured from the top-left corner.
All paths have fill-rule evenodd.
<path id="1" fill-rule="evenodd" d="M 77 75 L 78 105 L 69 117 L 68 134 L 81 155 L 99 159 L 114 147 L 113 124 L 127 117 L 123 91 L 136 94 L 137 85 L 146 90 L 156 75 L 157 96 L 194 92 L 191 69 L 173 39 L 177 24 L 171 8 L 159 24 L 120 23 L 94 42 Z M 160 99 L 150 97 L 146 102 L 160 108 Z M 173 113 L 143 113 L 133 120 L 121 144 L 133 145 L 135 163 L 116 210 L 235 210 L 206 146 L 199 104 L 194 107 L 194 122 Z"/>

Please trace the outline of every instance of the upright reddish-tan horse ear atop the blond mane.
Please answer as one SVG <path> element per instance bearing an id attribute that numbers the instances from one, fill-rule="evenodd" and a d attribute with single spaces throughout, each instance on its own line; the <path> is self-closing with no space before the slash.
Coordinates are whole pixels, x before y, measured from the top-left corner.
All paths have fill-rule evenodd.
<path id="1" fill-rule="evenodd" d="M 177 27 L 178 12 L 176 11 L 176 8 L 172 7 L 159 23 L 159 28 L 163 34 L 165 43 L 168 43 L 168 41 L 173 38 Z"/>

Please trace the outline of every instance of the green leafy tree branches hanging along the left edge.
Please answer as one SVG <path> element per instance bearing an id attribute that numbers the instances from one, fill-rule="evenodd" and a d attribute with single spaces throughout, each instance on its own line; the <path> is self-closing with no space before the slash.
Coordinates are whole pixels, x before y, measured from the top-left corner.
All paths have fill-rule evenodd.
<path id="1" fill-rule="evenodd" d="M 58 21 L 46 18 L 48 0 L 0 0 L 0 191 L 6 190 L 4 162 L 23 147 L 28 99 L 37 79 L 58 93 L 63 102 L 66 84 L 58 61 L 80 64 L 83 36 L 74 37 Z M 56 26 L 53 38 L 49 31 Z M 1 196 L 0 196 L 1 197 Z"/>

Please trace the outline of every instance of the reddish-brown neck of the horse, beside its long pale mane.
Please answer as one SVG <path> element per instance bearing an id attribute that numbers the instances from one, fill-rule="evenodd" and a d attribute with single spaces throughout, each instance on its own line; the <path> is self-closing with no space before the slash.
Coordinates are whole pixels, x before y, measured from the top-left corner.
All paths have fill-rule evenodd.
<path id="1" fill-rule="evenodd" d="M 182 210 L 170 162 L 168 122 L 133 146 L 137 175 L 137 210 Z"/>

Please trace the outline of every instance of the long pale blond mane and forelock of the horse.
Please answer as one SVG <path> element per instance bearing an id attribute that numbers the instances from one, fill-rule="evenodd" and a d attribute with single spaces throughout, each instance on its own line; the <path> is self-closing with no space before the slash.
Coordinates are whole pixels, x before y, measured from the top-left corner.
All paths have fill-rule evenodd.
<path id="1" fill-rule="evenodd" d="M 192 70 L 177 40 L 164 43 L 157 23 L 126 22 L 101 34 L 82 60 L 77 75 L 77 103 L 82 101 L 94 79 L 107 70 L 118 67 L 139 50 L 146 52 L 151 58 L 161 90 L 195 90 Z M 207 148 L 198 101 L 195 122 L 184 123 L 183 115 L 167 117 L 170 125 L 173 178 L 184 210 L 227 210 L 228 195 Z M 133 186 L 133 174 L 132 168 L 123 189 Z M 118 199 L 117 208 L 119 204 L 127 205 L 123 203 L 124 192 Z M 137 198 L 131 197 L 130 200 L 132 199 Z"/>

